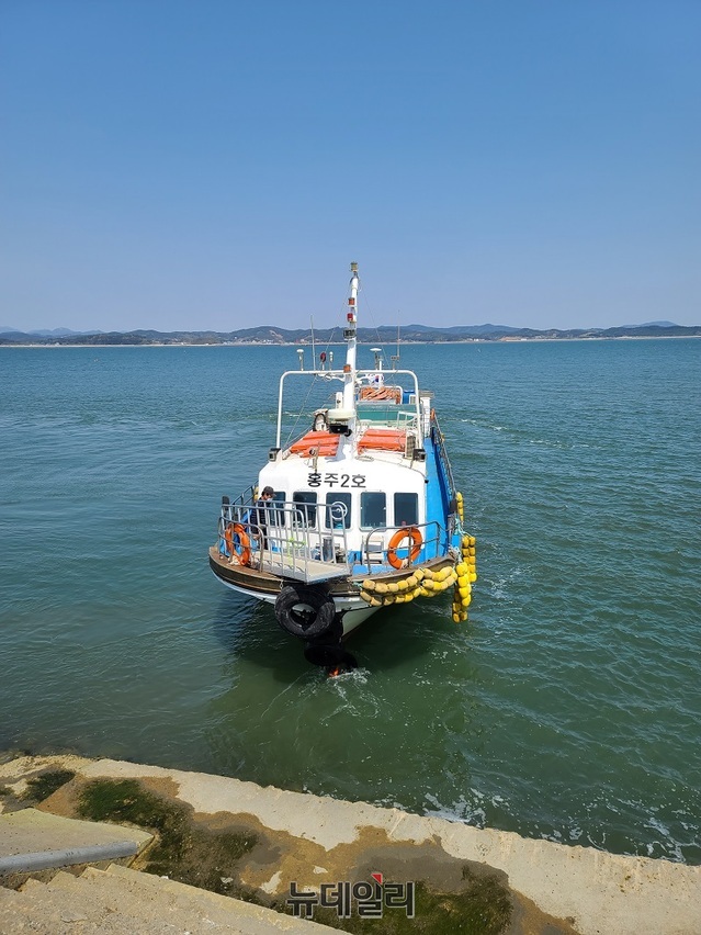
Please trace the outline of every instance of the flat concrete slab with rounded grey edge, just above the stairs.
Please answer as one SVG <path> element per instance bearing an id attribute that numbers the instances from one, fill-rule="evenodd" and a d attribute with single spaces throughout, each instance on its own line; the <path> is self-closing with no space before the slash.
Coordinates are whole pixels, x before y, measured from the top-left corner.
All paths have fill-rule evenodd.
<path id="1" fill-rule="evenodd" d="M 0 877 L 131 857 L 151 838 L 140 829 L 22 809 L 0 815 Z"/>

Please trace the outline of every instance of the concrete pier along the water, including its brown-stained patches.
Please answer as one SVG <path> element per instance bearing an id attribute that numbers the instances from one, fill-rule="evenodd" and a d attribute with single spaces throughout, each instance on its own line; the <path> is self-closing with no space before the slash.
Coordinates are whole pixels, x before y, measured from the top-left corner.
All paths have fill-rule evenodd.
<path id="1" fill-rule="evenodd" d="M 32 776 L 59 769 L 75 778 L 39 803 L 41 811 L 75 818 L 87 784 L 132 779 L 184 807 L 199 827 L 250 832 L 258 843 L 237 872 L 241 885 L 271 900 L 284 902 L 292 881 L 318 889 L 324 881 L 363 879 L 373 871 L 440 889 L 470 865 L 508 882 L 518 903 L 512 932 L 701 935 L 699 867 L 109 759 L 21 757 L 0 765 L 0 786 L 19 796 Z"/>

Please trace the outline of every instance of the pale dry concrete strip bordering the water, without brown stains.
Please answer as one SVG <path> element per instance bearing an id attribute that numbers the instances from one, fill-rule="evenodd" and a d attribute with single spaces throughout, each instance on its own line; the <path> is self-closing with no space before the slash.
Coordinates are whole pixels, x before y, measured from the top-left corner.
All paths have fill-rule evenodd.
<path id="1" fill-rule="evenodd" d="M 434 841 L 457 859 L 504 870 L 515 890 L 545 913 L 569 920 L 583 935 L 701 935 L 701 867 L 522 838 L 512 832 L 476 829 L 365 802 L 118 761 L 25 757 L 0 766 L 0 777 L 59 764 L 84 779 L 169 780 L 177 789 L 173 797 L 196 813 L 252 815 L 271 831 L 315 842 L 327 852 L 355 842 L 364 829 L 384 832 L 397 844 Z"/>

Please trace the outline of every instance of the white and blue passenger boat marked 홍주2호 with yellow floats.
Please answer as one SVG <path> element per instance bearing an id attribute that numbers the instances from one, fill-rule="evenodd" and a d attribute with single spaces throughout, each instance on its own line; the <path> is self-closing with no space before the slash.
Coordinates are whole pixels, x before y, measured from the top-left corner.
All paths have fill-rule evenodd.
<path id="1" fill-rule="evenodd" d="M 222 497 L 210 549 L 216 577 L 272 605 L 306 658 L 330 674 L 355 666 L 346 638 L 386 607 L 452 588 L 452 619 L 466 620 L 477 577 L 432 393 L 397 367 L 398 353 L 387 368 L 371 348 L 372 365 L 358 365 L 366 352 L 358 346 L 359 291 L 351 263 L 346 361 L 333 369 L 333 351 L 317 360 L 313 346 L 305 369 L 305 348 L 297 350 L 298 367 L 280 378 L 268 461 L 240 495 Z M 291 409 L 313 398 L 299 381 L 313 384 L 320 405 L 283 441 Z"/>

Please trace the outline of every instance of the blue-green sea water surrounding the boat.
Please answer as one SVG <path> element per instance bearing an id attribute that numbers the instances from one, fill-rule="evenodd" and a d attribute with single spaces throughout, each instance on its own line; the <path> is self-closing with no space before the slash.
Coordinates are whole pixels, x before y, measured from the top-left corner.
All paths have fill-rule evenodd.
<path id="1" fill-rule="evenodd" d="M 206 561 L 294 348 L 0 349 L 0 747 L 701 863 L 701 341 L 402 363 L 477 536 L 470 623 L 388 609 L 326 680 Z"/>

